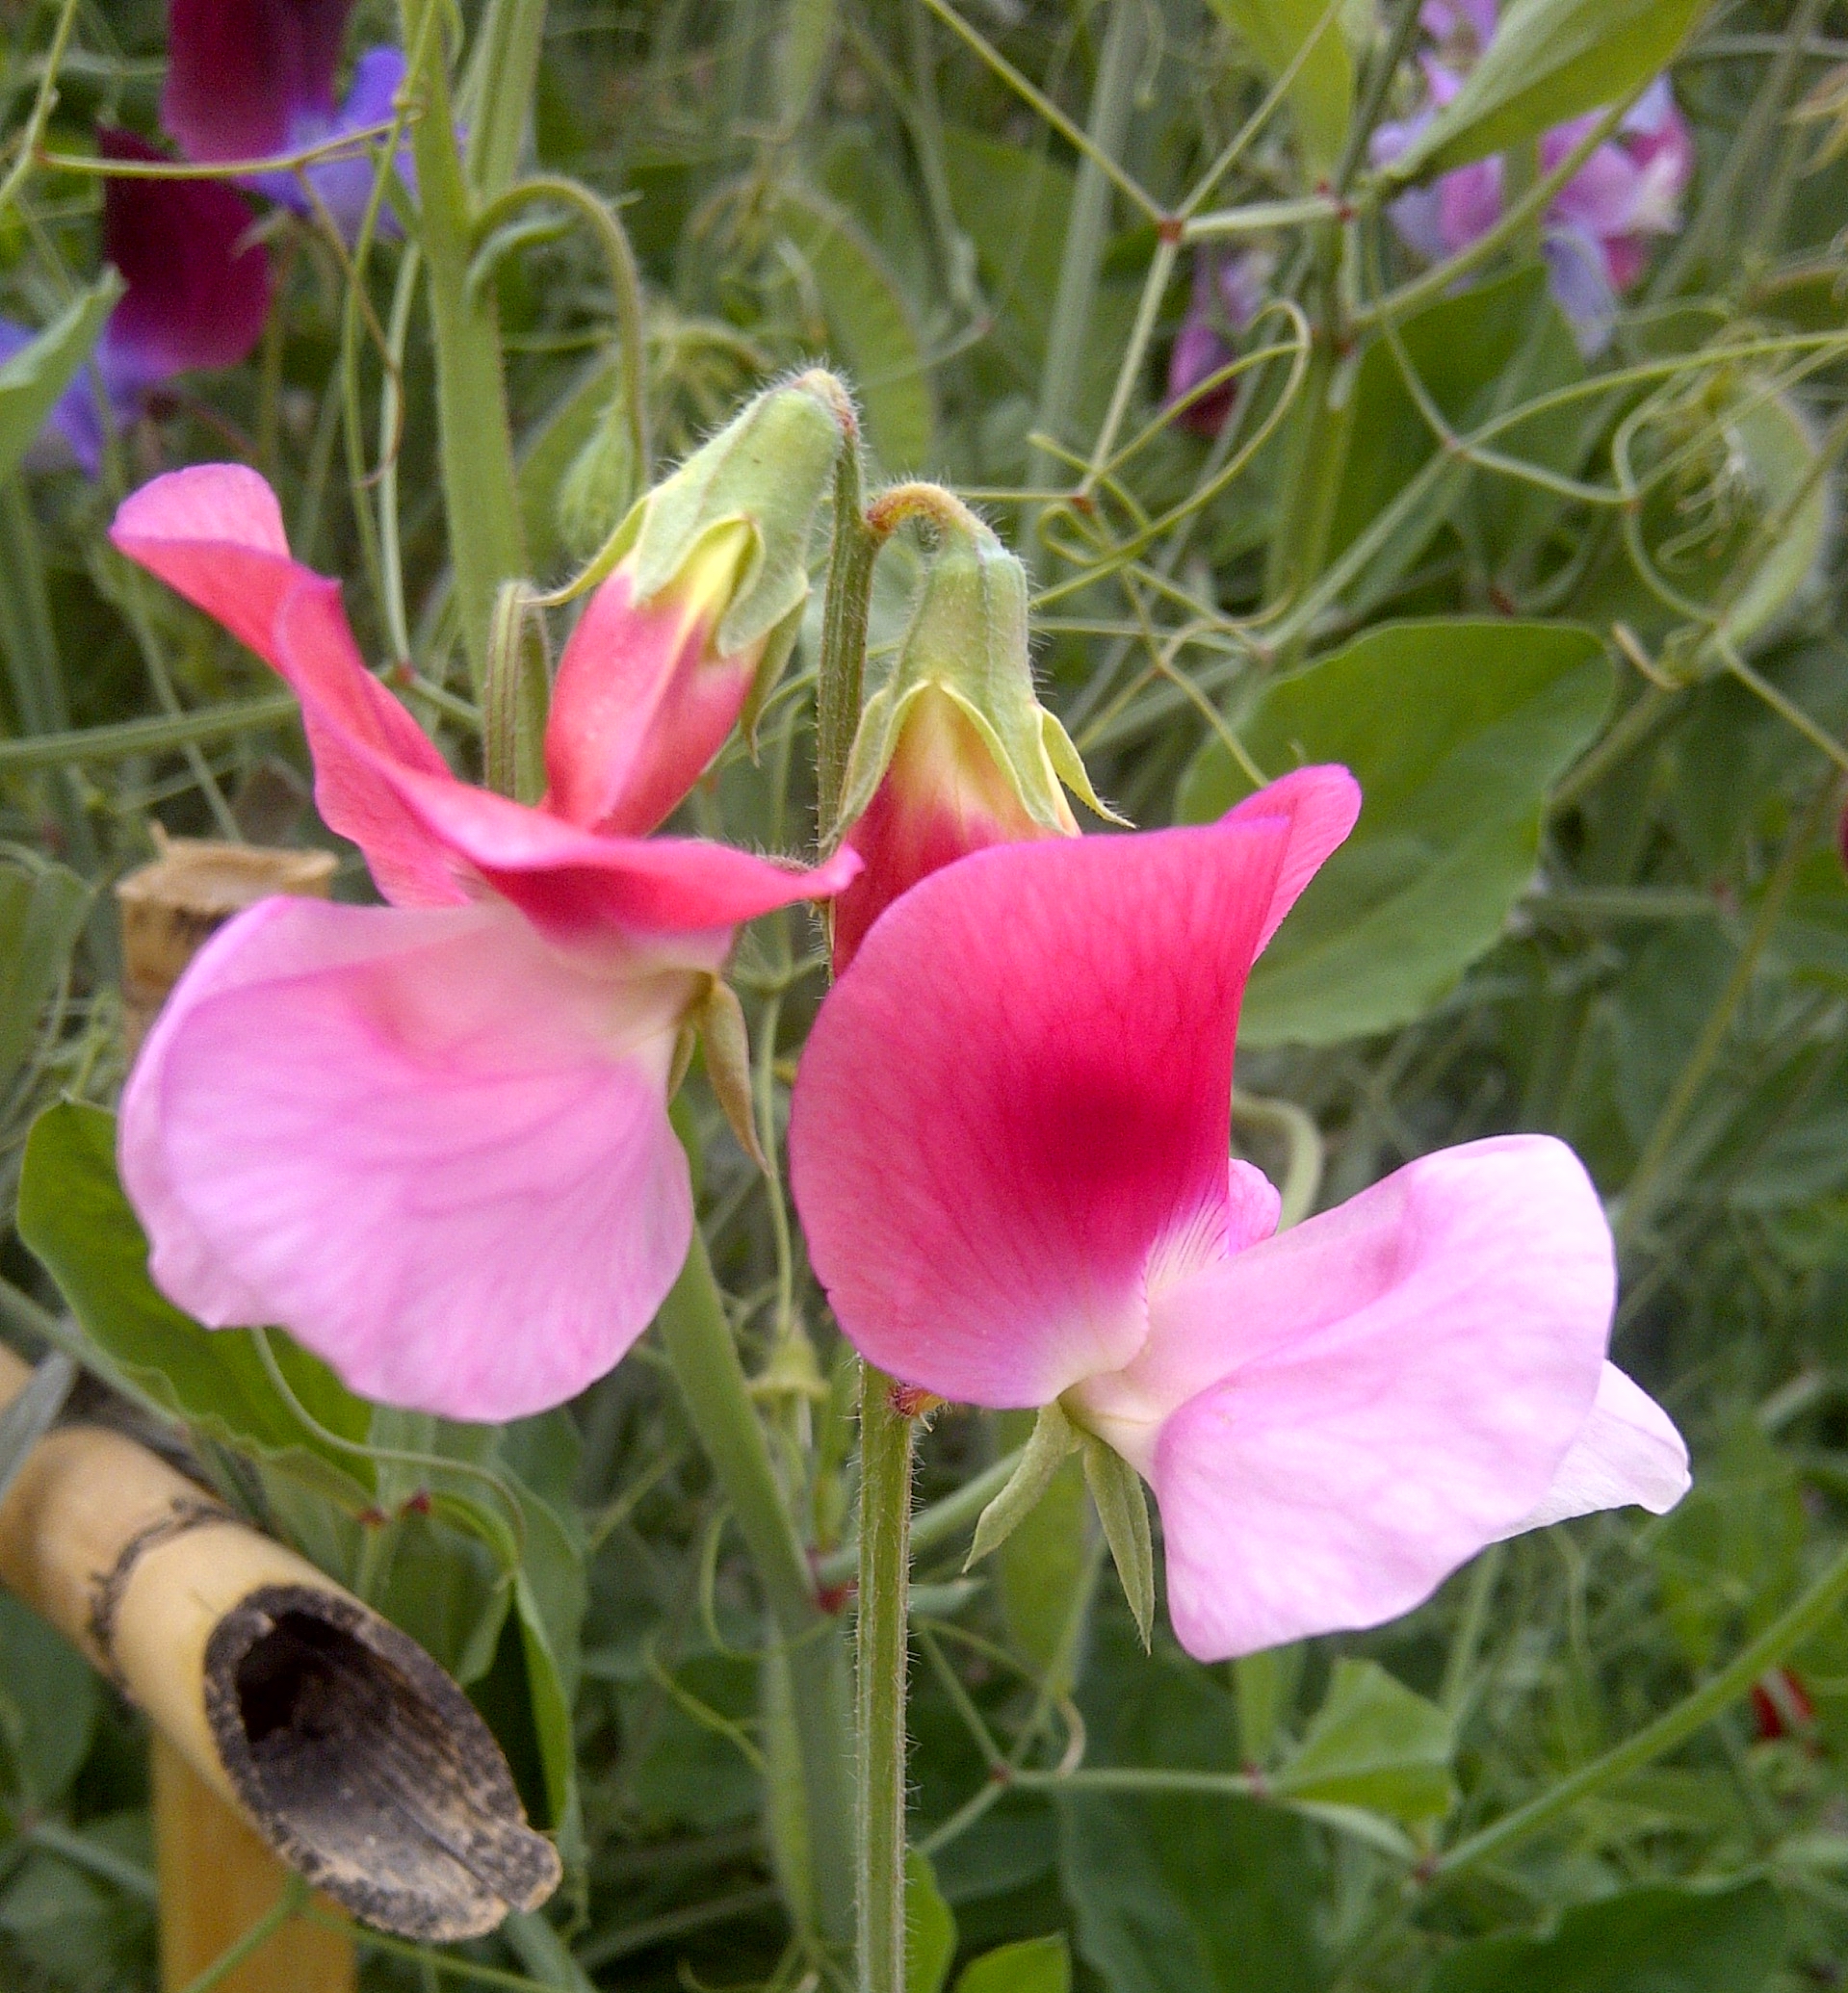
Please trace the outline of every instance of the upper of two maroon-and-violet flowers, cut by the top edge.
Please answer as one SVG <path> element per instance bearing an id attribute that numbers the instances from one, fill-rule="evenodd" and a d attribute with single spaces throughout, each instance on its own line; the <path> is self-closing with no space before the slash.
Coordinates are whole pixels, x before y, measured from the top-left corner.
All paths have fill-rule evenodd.
<path id="1" fill-rule="evenodd" d="M 161 120 L 189 159 L 261 159 L 301 151 L 391 118 L 405 80 L 397 48 L 369 48 L 353 66 L 347 102 L 335 104 L 333 78 L 353 0 L 171 0 L 167 88 Z M 411 179 L 411 151 L 399 151 Z M 373 161 L 323 159 L 305 169 L 315 199 L 351 241 L 373 191 Z M 269 199 L 311 215 L 315 201 L 293 171 L 251 173 Z M 381 227 L 391 229 L 389 209 Z"/>

